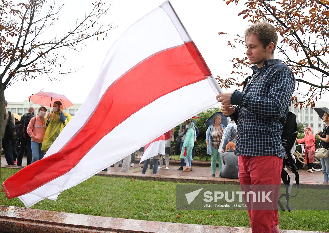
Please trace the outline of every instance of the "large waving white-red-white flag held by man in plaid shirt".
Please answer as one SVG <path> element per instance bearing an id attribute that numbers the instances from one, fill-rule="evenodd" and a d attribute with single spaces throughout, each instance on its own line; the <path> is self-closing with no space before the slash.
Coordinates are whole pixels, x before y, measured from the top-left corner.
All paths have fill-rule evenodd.
<path id="1" fill-rule="evenodd" d="M 2 187 L 9 199 L 18 197 L 26 207 L 56 200 L 63 190 L 214 106 L 220 91 L 166 1 L 115 41 L 86 101 L 45 157 Z"/>

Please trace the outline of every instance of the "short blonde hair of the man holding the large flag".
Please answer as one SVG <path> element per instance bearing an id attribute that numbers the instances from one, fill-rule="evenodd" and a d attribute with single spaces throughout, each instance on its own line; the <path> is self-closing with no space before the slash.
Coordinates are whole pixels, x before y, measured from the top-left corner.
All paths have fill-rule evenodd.
<path id="1" fill-rule="evenodd" d="M 264 49 L 269 43 L 273 42 L 274 48 L 272 54 L 274 54 L 276 44 L 278 43 L 278 34 L 273 25 L 266 21 L 250 25 L 244 33 L 244 40 L 252 34 L 257 35 L 258 40 L 263 44 Z"/>

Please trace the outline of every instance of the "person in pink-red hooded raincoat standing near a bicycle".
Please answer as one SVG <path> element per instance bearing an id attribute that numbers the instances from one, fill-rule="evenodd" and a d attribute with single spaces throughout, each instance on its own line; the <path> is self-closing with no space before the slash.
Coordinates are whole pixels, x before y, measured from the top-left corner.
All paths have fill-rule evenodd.
<path id="1" fill-rule="evenodd" d="M 305 142 L 305 164 L 308 165 L 306 172 L 313 173 L 312 167 L 315 156 L 315 135 L 312 133 L 311 126 L 305 128 L 305 137 L 297 139 L 297 143 Z"/>

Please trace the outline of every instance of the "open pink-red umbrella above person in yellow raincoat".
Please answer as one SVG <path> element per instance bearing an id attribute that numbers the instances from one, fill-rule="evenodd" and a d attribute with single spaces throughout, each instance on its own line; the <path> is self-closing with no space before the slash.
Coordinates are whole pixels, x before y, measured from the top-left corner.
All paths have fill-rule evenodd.
<path id="1" fill-rule="evenodd" d="M 69 101 L 66 96 L 53 93 L 53 92 L 45 92 L 45 91 L 39 91 L 36 94 L 33 94 L 32 96 L 28 97 L 29 101 L 32 101 L 34 103 L 52 107 L 54 102 L 60 101 L 63 104 L 63 108 L 68 108 L 72 105 L 74 105 L 71 101 Z"/>

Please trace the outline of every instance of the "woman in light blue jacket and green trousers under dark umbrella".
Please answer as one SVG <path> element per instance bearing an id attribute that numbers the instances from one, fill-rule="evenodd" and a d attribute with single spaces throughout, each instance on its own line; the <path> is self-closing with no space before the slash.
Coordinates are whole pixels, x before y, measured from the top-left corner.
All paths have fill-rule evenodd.
<path id="1" fill-rule="evenodd" d="M 222 169 L 222 160 L 218 148 L 222 140 L 225 126 L 220 124 L 221 121 L 221 115 L 216 113 L 214 116 L 214 124 L 211 124 L 206 131 L 207 154 L 211 156 L 211 177 L 215 177 L 217 160 L 219 173 Z"/>

